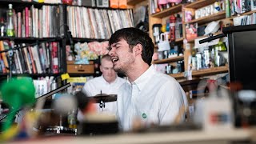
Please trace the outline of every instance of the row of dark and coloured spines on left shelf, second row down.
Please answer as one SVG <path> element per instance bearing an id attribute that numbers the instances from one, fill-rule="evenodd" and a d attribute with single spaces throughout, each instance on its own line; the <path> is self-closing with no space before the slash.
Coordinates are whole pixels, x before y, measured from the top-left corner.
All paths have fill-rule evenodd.
<path id="1" fill-rule="evenodd" d="M 12 74 L 59 74 L 62 72 L 59 42 L 41 42 L 26 46 L 25 43 L 0 41 L 0 51 L 12 50 Z M 0 53 L 0 74 L 9 73 L 10 58 L 8 53 Z"/>

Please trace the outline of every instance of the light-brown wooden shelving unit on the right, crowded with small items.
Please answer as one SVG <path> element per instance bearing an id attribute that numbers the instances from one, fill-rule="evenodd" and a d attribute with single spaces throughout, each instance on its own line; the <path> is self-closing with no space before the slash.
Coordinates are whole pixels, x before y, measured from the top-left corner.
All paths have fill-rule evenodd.
<path id="1" fill-rule="evenodd" d="M 149 2 L 149 6 L 151 8 L 152 3 L 150 3 L 150 1 L 148 1 L 148 2 Z M 249 10 L 246 12 L 242 12 L 241 14 L 234 14 L 234 15 L 231 14 L 230 18 L 226 18 L 226 10 L 220 10 L 218 13 L 214 12 L 214 14 L 210 14 L 209 16 L 204 16 L 202 18 L 197 18 L 197 19 L 193 18 L 190 22 L 185 22 L 184 15 L 185 15 L 186 8 L 198 10 L 198 9 L 205 8 L 206 6 L 213 5 L 214 2 L 216 2 L 216 0 L 198 0 L 195 2 L 191 2 L 191 3 L 182 3 L 182 4 L 178 4 L 176 6 L 171 6 L 168 9 L 162 10 L 162 11 L 160 11 L 158 13 L 154 13 L 154 14 L 150 14 L 151 11 L 149 10 L 149 23 L 150 23 L 150 32 L 149 33 L 150 33 L 151 38 L 154 38 L 153 30 L 151 30 L 151 29 L 155 23 L 163 24 L 164 21 L 166 21 L 166 19 L 168 19 L 168 17 L 170 17 L 170 14 L 178 14 L 179 13 L 179 14 L 182 14 L 182 16 L 183 16 L 183 20 L 182 20 L 183 38 L 175 39 L 175 43 L 179 42 L 179 43 L 183 44 L 184 54 L 183 54 L 182 58 L 180 58 L 180 57 L 166 58 L 166 59 L 156 60 L 156 61 L 152 62 L 154 64 L 163 64 L 163 63 L 170 63 L 170 62 L 175 62 L 175 61 L 183 59 L 185 62 L 185 65 L 184 65 L 185 72 L 182 72 L 180 74 L 168 74 L 168 75 L 178 79 L 179 82 L 187 81 L 185 78 L 185 75 L 186 75 L 186 70 L 188 69 L 188 62 L 189 62 L 189 58 L 191 56 L 191 50 L 194 47 L 194 42 L 195 42 L 194 40 L 197 38 L 209 37 L 207 35 L 203 35 L 203 36 L 198 36 L 196 38 L 187 40 L 186 39 L 186 30 L 185 30 L 186 24 L 197 23 L 198 26 L 207 26 L 207 24 L 210 22 L 220 21 L 221 28 L 222 28 L 222 26 L 233 26 L 234 18 L 249 15 L 249 14 L 254 14 L 256 12 L 256 10 Z M 224 5 L 225 5 L 225 3 L 222 3 L 222 6 L 224 6 Z M 218 32 L 215 32 L 213 35 L 222 34 L 221 30 L 222 29 L 220 29 Z M 222 39 L 220 41 L 222 42 Z M 158 49 L 158 46 L 155 46 L 155 49 Z M 216 74 L 223 74 L 223 73 L 228 73 L 228 72 L 229 72 L 228 66 L 204 68 L 204 69 L 200 69 L 200 70 L 192 70 L 192 78 L 200 79 L 200 78 L 205 78 L 208 76 L 212 76 L 212 75 L 216 75 Z"/>

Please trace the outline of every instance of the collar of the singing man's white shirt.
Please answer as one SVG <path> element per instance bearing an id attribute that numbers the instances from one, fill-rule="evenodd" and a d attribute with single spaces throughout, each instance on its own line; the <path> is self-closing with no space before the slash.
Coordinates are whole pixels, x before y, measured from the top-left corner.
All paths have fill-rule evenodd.
<path id="1" fill-rule="evenodd" d="M 150 78 L 156 73 L 154 66 L 151 65 L 148 70 L 146 70 L 140 77 L 138 77 L 134 82 L 138 86 L 138 90 L 142 90 L 147 84 Z"/>

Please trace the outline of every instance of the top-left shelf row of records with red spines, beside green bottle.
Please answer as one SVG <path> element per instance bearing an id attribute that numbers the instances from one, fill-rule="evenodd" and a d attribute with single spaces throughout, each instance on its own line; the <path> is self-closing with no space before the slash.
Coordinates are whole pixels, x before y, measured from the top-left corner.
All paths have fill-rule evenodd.
<path id="1" fill-rule="evenodd" d="M 12 36 L 16 38 L 56 38 L 60 37 L 62 28 L 61 5 L 11 5 L 12 7 L 12 27 L 13 35 L 6 34 L 6 30 L 1 31 L 1 37 Z M 6 6 L 0 6 L 2 15 L 1 26 L 7 29 L 9 20 L 3 15 L 6 13 Z"/>

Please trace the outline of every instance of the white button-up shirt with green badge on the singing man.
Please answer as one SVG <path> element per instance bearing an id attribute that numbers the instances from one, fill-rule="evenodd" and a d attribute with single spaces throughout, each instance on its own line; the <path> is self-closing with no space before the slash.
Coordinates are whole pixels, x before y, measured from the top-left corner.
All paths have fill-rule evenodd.
<path id="1" fill-rule="evenodd" d="M 184 105 L 187 106 L 186 95 L 179 83 L 154 66 L 118 90 L 118 119 L 125 131 L 131 130 L 135 119 L 145 125 L 169 125 Z"/>

